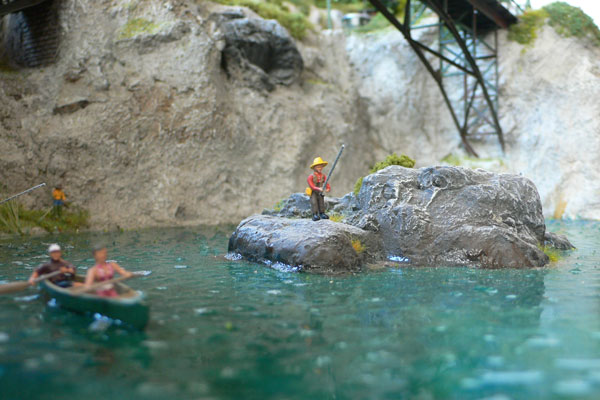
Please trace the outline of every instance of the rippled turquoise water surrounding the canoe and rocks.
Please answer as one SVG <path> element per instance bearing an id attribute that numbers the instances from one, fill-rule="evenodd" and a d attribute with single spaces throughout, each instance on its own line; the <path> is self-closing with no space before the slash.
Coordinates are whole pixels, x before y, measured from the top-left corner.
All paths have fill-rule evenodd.
<path id="1" fill-rule="evenodd" d="M 152 274 L 144 333 L 0 297 L 0 399 L 600 398 L 600 224 L 543 270 L 402 268 L 326 277 L 222 257 L 231 228 L 0 240 L 0 280 L 48 243 Z"/>

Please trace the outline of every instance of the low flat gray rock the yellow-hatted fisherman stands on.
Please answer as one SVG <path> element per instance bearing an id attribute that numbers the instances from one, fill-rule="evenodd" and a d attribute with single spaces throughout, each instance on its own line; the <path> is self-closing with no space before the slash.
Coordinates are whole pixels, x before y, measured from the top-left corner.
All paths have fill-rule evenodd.
<path id="1" fill-rule="evenodd" d="M 381 243 L 372 232 L 346 224 L 255 215 L 237 227 L 229 251 L 252 261 L 341 273 L 358 271 L 380 257 Z"/>

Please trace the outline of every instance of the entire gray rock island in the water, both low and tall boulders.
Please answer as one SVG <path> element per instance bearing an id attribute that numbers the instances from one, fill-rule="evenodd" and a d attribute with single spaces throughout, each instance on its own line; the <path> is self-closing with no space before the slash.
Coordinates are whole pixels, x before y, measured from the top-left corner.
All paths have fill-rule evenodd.
<path id="1" fill-rule="evenodd" d="M 346 224 L 294 219 L 305 214 L 308 199 L 303 197 L 294 194 L 282 204 L 277 214 L 288 217 L 244 220 L 229 250 L 310 270 L 312 254 L 319 249 L 317 259 L 327 260 L 333 270 L 353 270 L 358 262 L 372 259 L 534 268 L 549 261 L 544 244 L 572 248 L 566 238 L 546 232 L 537 189 L 518 175 L 461 167 L 387 167 L 365 177 L 358 197 L 351 194 L 331 204 Z M 350 236 L 367 244 L 368 257 L 357 258 L 348 245 Z"/>

